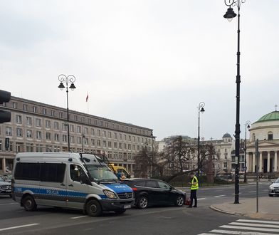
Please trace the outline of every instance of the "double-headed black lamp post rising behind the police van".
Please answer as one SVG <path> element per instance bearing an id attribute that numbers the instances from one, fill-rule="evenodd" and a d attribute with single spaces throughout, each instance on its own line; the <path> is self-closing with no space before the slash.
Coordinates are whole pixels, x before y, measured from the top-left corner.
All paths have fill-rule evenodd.
<path id="1" fill-rule="evenodd" d="M 70 152 L 70 128 L 69 128 L 69 99 L 68 99 L 68 83 L 70 84 L 70 90 L 75 90 L 75 76 L 74 75 L 64 75 L 60 74 L 58 76 L 58 80 L 60 81 L 60 84 L 58 85 L 58 88 L 60 90 L 63 90 L 66 85 L 66 94 L 67 94 L 67 130 L 68 130 L 68 152 Z M 63 84 L 65 83 L 65 85 Z"/>

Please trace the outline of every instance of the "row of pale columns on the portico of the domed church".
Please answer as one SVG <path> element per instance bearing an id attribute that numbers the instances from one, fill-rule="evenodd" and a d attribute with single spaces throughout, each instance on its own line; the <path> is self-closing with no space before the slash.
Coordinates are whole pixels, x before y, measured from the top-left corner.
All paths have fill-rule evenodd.
<path id="1" fill-rule="evenodd" d="M 277 151 L 261 151 L 259 152 L 258 171 L 263 172 L 263 152 L 267 152 L 267 172 L 278 172 L 278 155 Z M 270 152 L 274 152 L 274 156 L 270 158 Z M 273 169 L 270 170 L 270 159 L 273 160 Z M 248 172 L 256 172 L 256 152 L 248 152 L 246 155 Z"/>

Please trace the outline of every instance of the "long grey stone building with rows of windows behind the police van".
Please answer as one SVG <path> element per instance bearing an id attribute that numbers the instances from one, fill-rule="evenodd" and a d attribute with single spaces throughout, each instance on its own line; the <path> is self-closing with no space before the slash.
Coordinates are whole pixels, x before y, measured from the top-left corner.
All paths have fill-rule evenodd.
<path id="1" fill-rule="evenodd" d="M 110 162 L 132 173 L 135 155 L 152 150 L 152 129 L 67 110 L 33 100 L 11 97 L 0 105 L 11 111 L 11 122 L 0 124 L 0 173 L 11 170 L 17 152 L 66 152 L 68 127 L 70 151 L 102 153 Z M 9 138 L 9 147 L 5 140 Z"/>

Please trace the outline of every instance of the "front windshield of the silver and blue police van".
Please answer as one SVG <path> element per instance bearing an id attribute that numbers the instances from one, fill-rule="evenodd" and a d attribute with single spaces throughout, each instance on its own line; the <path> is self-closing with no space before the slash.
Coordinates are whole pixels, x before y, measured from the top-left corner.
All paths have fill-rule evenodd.
<path id="1" fill-rule="evenodd" d="M 108 167 L 93 164 L 87 164 L 86 167 L 91 177 L 96 181 L 117 180 L 115 174 Z"/>

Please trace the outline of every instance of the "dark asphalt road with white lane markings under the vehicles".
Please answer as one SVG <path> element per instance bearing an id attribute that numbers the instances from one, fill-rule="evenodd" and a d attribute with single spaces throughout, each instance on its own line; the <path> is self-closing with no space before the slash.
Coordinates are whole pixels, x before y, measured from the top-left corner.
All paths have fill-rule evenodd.
<path id="1" fill-rule="evenodd" d="M 256 184 L 241 185 L 240 192 L 240 202 L 256 197 Z M 259 196 L 267 194 L 268 183 L 260 183 Z M 243 219 L 209 209 L 211 204 L 233 202 L 233 186 L 202 187 L 198 199 L 198 208 L 152 207 L 90 217 L 81 211 L 47 207 L 28 212 L 9 197 L 0 197 L 0 234 L 203 234 Z"/>

